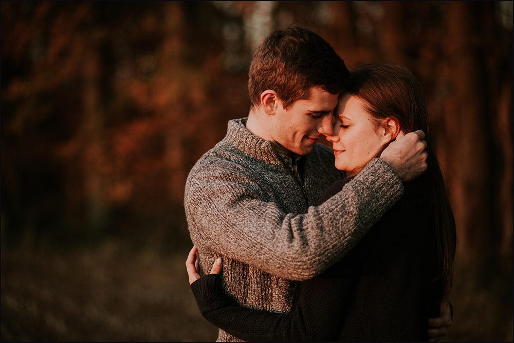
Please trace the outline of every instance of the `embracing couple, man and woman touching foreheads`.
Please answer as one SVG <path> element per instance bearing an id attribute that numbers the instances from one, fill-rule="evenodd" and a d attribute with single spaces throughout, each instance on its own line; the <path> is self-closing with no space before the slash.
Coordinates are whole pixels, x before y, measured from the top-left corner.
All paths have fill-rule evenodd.
<path id="1" fill-rule="evenodd" d="M 248 88 L 248 117 L 185 188 L 186 266 L 217 340 L 441 339 L 455 224 L 413 74 L 350 73 L 292 25 L 262 42 Z"/>

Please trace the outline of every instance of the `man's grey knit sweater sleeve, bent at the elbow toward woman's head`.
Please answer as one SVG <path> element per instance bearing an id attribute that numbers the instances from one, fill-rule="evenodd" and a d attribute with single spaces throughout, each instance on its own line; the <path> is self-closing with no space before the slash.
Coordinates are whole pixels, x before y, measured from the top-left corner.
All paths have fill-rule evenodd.
<path id="1" fill-rule="evenodd" d="M 184 206 L 199 251 L 306 280 L 350 251 L 402 192 L 393 169 L 374 159 L 323 204 L 304 214 L 285 213 L 263 200 L 262 189 L 244 171 L 203 168 L 190 174 Z"/>

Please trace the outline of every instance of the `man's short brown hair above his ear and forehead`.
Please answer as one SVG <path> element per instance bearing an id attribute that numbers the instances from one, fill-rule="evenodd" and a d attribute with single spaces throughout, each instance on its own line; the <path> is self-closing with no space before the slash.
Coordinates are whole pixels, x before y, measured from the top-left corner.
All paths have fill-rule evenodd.
<path id="1" fill-rule="evenodd" d="M 338 94 L 350 77 L 344 61 L 320 35 L 291 25 L 271 32 L 253 56 L 248 73 L 252 108 L 266 89 L 277 92 L 284 108 L 309 99 L 311 87 Z"/>

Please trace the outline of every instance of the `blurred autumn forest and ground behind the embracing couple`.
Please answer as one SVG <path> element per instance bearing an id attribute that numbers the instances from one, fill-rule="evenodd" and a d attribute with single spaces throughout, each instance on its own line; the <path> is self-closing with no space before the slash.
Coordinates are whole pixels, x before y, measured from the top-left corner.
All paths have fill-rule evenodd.
<path id="1" fill-rule="evenodd" d="M 457 223 L 447 341 L 512 341 L 512 2 L 1 3 L 2 340 L 209 341 L 186 177 L 301 23 L 424 86 Z"/>

